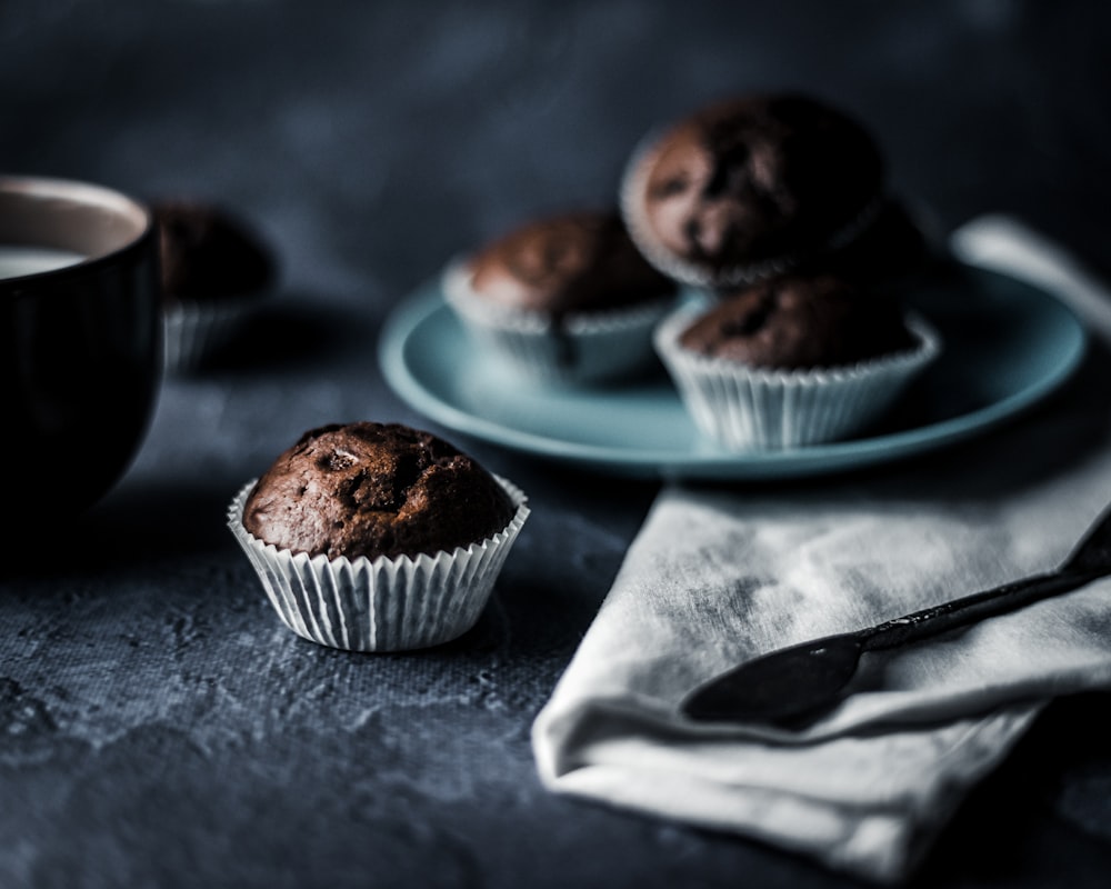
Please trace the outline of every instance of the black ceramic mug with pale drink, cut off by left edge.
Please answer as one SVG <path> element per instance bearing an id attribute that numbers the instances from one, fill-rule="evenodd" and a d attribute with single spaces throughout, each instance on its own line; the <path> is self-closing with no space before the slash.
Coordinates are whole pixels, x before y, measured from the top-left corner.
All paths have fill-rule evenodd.
<path id="1" fill-rule="evenodd" d="M 149 209 L 126 194 L 0 176 L 0 472 L 14 522 L 84 511 L 138 452 L 161 382 L 157 249 Z"/>

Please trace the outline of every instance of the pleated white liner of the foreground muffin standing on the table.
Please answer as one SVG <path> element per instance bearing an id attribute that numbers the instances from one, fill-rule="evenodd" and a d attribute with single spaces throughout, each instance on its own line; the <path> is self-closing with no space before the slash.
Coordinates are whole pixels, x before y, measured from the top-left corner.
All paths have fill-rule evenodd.
<path id="1" fill-rule="evenodd" d="M 517 511 L 493 537 L 434 556 L 310 557 L 264 543 L 243 527 L 246 485 L 228 527 L 254 567 L 278 617 L 298 636 L 349 651 L 404 651 L 448 642 L 478 621 L 529 516 L 528 498 L 498 482 Z"/>

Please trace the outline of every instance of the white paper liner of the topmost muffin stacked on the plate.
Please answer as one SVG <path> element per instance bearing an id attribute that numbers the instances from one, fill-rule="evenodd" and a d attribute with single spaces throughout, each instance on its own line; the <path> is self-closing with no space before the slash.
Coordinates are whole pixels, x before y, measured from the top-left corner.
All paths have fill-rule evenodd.
<path id="1" fill-rule="evenodd" d="M 645 218 L 641 198 L 647 188 L 648 161 L 660 138 L 661 134 L 652 133 L 643 139 L 625 166 L 619 197 L 621 216 L 624 219 L 629 237 L 644 259 L 663 274 L 690 287 L 715 289 L 742 287 L 789 272 L 799 268 L 803 262 L 810 262 L 818 256 L 839 250 L 851 243 L 875 220 L 883 207 L 883 196 L 877 194 L 852 220 L 833 232 L 821 250 L 784 253 L 742 266 L 731 266 L 718 270 L 710 269 L 668 250 L 660 243 Z"/>

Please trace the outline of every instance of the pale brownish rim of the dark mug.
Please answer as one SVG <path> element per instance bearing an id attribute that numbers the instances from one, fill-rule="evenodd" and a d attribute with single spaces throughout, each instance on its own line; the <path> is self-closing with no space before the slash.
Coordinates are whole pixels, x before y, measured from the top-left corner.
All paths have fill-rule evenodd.
<path id="1" fill-rule="evenodd" d="M 40 279 L 54 280 L 72 274 L 96 273 L 100 268 L 119 258 L 127 258 L 129 253 L 141 249 L 144 241 L 152 237 L 154 230 L 154 217 L 148 203 L 119 189 L 96 182 L 48 176 L 0 173 L 0 196 L 3 194 L 24 196 L 31 199 L 66 200 L 84 207 L 101 208 L 123 217 L 138 214 L 140 226 L 134 236 L 104 252 L 52 269 L 0 278 L 0 289 L 7 289 L 10 284 L 22 286 Z M 27 246 L 48 247 L 49 244 L 28 243 Z"/>

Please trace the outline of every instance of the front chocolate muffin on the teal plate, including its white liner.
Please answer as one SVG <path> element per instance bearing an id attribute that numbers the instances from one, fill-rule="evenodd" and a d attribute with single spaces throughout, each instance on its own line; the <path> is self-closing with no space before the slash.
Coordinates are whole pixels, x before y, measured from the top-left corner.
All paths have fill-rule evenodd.
<path id="1" fill-rule="evenodd" d="M 864 429 L 940 348 L 898 301 L 832 274 L 781 276 L 683 307 L 655 344 L 699 430 L 739 451 Z"/>

